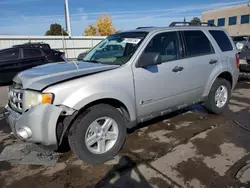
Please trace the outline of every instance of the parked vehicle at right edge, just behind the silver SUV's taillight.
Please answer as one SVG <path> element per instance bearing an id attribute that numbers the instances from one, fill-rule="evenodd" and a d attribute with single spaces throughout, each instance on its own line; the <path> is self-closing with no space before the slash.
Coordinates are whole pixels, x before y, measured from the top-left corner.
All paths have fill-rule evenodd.
<path id="1" fill-rule="evenodd" d="M 250 35 L 234 36 L 232 38 L 240 51 L 240 72 L 250 73 Z"/>

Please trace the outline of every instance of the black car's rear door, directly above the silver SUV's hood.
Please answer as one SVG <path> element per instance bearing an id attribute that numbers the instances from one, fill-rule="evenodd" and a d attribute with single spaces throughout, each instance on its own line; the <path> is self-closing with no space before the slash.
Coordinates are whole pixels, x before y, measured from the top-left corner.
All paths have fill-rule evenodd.
<path id="1" fill-rule="evenodd" d="M 47 63 L 46 55 L 39 48 L 22 48 L 22 62 L 20 67 L 26 70 Z"/>

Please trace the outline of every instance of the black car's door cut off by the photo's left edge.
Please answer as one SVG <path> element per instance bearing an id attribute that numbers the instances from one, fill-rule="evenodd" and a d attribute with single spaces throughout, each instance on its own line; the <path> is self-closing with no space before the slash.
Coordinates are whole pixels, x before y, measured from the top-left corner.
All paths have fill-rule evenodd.
<path id="1" fill-rule="evenodd" d="M 11 48 L 0 51 L 0 82 L 10 82 L 20 71 L 20 49 Z"/>

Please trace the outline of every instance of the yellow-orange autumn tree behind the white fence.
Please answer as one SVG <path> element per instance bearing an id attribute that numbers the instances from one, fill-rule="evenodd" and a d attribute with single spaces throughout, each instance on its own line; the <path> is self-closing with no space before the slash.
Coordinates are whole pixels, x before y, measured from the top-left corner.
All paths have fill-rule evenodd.
<path id="1" fill-rule="evenodd" d="M 112 20 L 108 14 L 97 19 L 96 25 L 89 25 L 85 30 L 86 36 L 108 36 L 116 32 Z"/>

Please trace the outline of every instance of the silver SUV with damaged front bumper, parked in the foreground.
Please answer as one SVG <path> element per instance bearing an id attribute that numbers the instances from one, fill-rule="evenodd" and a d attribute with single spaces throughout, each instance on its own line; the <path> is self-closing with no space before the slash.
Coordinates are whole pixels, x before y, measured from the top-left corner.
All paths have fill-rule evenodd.
<path id="1" fill-rule="evenodd" d="M 121 48 L 107 52 L 107 45 Z M 68 141 L 79 158 L 101 163 L 139 123 L 195 103 L 221 113 L 238 66 L 237 49 L 219 27 L 138 28 L 108 36 L 82 61 L 20 73 L 5 115 L 17 138 L 54 149 Z"/>

